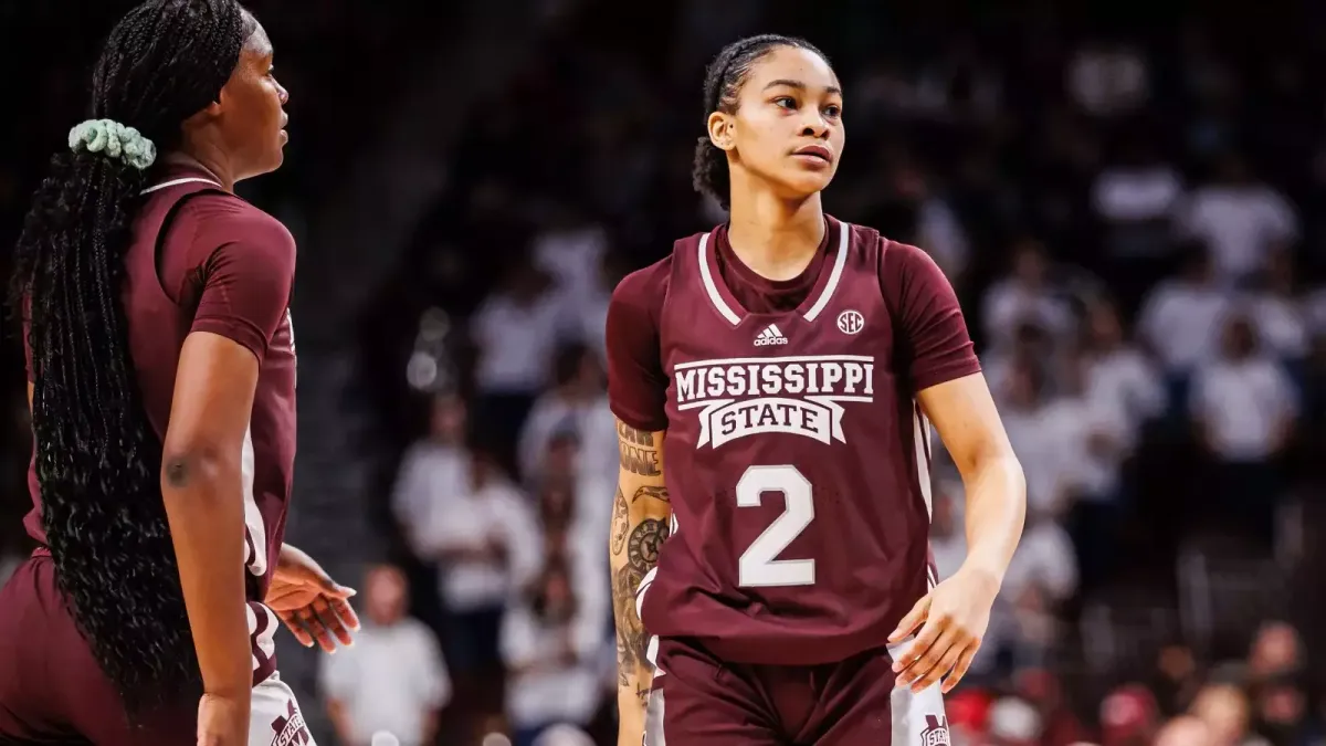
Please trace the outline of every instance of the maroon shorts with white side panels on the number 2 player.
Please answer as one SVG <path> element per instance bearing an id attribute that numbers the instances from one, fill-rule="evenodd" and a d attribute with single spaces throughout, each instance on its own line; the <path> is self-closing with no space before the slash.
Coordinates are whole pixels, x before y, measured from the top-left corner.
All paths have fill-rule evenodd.
<path id="1" fill-rule="evenodd" d="M 947 746 L 939 685 L 895 689 L 888 650 L 814 666 L 727 664 L 660 640 L 644 746 Z"/>

